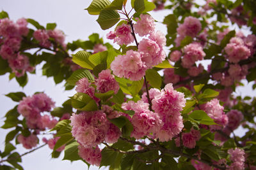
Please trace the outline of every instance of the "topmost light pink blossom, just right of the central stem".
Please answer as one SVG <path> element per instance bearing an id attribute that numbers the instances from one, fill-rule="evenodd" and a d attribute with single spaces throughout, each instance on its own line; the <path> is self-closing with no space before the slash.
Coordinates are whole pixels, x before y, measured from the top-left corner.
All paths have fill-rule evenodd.
<path id="1" fill-rule="evenodd" d="M 134 32 L 139 36 L 145 36 L 151 34 L 155 30 L 154 18 L 150 15 L 140 15 L 140 18 L 136 18 L 137 23 L 134 24 Z"/>

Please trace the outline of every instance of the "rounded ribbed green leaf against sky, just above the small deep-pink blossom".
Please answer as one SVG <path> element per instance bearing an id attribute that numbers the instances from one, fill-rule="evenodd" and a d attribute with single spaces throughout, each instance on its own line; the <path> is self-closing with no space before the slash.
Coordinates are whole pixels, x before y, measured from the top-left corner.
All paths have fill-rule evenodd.
<path id="1" fill-rule="evenodd" d="M 120 20 L 120 15 L 114 10 L 102 10 L 100 11 L 97 22 L 101 29 L 106 30 L 113 27 Z"/>

